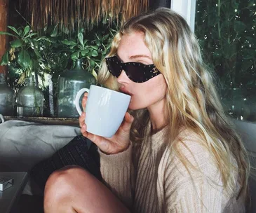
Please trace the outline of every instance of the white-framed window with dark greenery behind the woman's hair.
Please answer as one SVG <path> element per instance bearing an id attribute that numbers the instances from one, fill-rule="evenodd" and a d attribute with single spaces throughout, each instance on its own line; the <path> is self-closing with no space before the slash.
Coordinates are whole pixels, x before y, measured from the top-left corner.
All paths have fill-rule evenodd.
<path id="1" fill-rule="evenodd" d="M 256 122 L 256 6 L 252 0 L 173 1 L 219 81 L 229 116 Z M 195 22 L 193 22 L 195 16 Z"/>

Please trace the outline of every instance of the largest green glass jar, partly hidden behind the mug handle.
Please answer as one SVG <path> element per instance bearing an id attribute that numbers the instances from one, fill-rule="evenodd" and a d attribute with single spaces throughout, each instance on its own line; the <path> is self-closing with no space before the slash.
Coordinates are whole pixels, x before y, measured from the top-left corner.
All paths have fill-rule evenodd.
<path id="1" fill-rule="evenodd" d="M 96 84 L 96 79 L 93 74 L 83 69 L 82 60 L 76 60 L 74 69 L 62 72 L 58 78 L 58 117 L 78 118 L 74 104 L 76 94 L 81 88 L 90 88 L 92 84 Z"/>

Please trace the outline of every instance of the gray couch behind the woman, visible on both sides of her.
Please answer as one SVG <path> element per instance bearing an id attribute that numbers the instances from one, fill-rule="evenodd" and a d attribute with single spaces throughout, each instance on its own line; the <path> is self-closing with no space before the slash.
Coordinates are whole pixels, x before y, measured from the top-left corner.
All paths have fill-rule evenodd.
<path id="1" fill-rule="evenodd" d="M 233 120 L 246 149 L 252 166 L 256 167 L 256 123 Z M 0 172 L 29 171 L 36 163 L 46 159 L 65 146 L 80 129 L 65 125 L 41 125 L 25 121 L 0 121 Z M 256 171 L 253 170 L 253 172 Z M 41 191 L 29 181 L 23 193 L 32 195 Z M 250 179 L 251 208 L 256 212 L 256 182 Z"/>

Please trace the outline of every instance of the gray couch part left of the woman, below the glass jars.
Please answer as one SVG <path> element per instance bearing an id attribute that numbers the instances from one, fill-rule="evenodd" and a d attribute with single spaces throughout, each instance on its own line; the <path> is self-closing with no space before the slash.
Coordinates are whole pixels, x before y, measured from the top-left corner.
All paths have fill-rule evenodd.
<path id="1" fill-rule="evenodd" d="M 74 126 L 0 121 L 0 172 L 29 172 L 79 134 Z M 42 191 L 29 179 L 23 193 L 40 195 Z"/>

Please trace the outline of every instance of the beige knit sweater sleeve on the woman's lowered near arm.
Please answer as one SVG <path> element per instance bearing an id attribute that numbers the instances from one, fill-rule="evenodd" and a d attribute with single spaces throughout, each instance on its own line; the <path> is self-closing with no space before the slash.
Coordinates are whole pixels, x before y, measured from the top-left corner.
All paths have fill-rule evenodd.
<path id="1" fill-rule="evenodd" d="M 168 151 L 164 153 L 162 212 L 222 212 L 224 187 L 210 153 L 192 138 L 179 142 L 177 148 L 191 165 L 186 167 L 178 156 L 170 159 Z"/>

